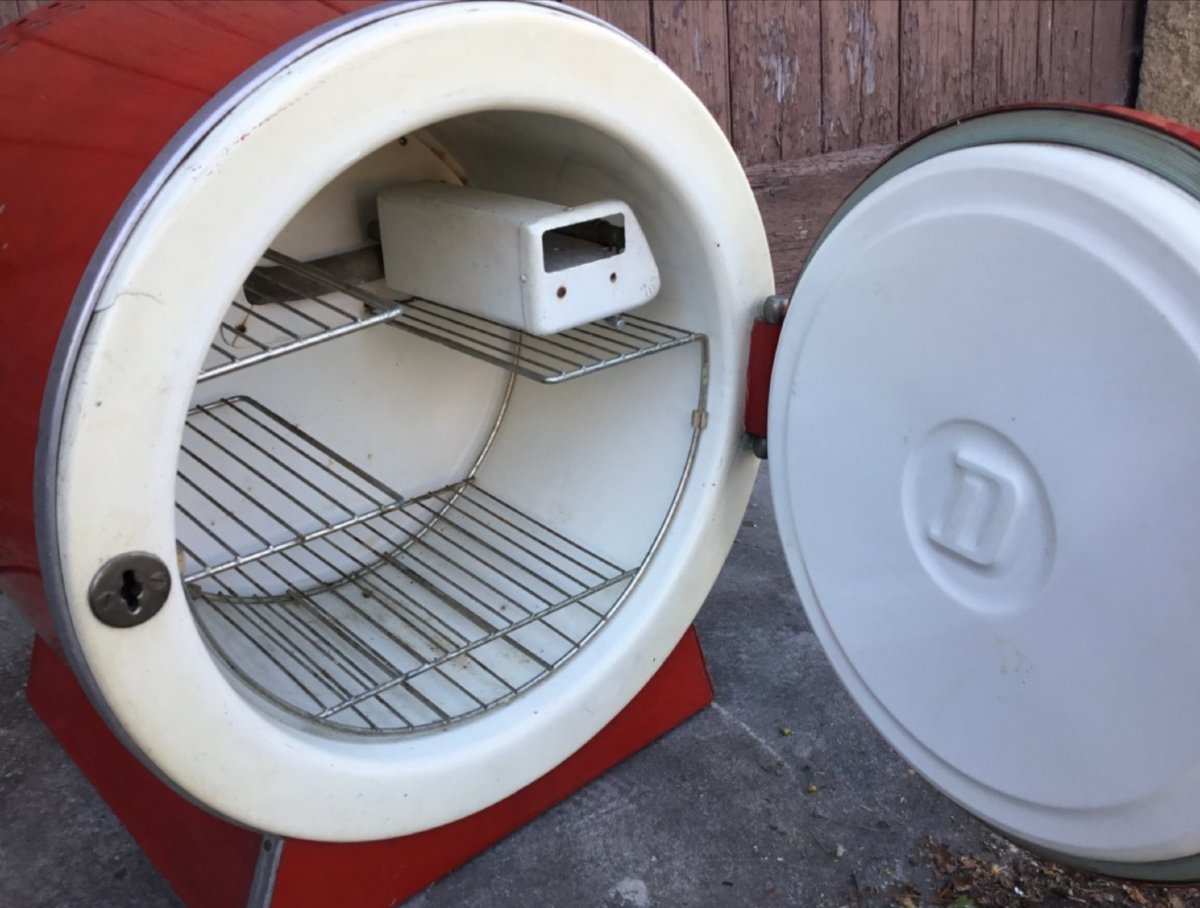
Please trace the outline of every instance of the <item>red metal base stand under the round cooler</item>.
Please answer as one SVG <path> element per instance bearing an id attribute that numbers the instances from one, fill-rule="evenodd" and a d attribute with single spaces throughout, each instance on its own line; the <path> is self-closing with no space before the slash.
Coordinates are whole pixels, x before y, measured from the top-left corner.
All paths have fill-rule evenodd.
<path id="1" fill-rule="evenodd" d="M 242 908 L 252 895 L 254 903 L 272 908 L 391 908 L 703 709 L 713 687 L 696 632 L 689 631 L 604 730 L 536 782 L 449 825 L 353 844 L 265 838 L 175 794 L 121 746 L 67 666 L 41 639 L 34 645 L 28 696 L 191 908 Z"/>

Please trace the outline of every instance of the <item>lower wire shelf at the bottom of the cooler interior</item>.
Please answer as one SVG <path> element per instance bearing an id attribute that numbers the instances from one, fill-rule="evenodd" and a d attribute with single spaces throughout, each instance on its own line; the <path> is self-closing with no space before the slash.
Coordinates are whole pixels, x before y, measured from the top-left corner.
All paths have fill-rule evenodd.
<path id="1" fill-rule="evenodd" d="M 228 669 L 362 734 L 506 702 L 576 653 L 641 569 L 469 477 L 403 500 L 245 397 L 190 414 L 176 528 L 193 614 Z"/>

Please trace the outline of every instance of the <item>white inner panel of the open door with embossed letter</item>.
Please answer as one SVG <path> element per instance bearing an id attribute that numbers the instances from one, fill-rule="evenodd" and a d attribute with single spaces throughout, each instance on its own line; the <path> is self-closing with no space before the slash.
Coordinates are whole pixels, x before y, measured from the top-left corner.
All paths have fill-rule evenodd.
<path id="1" fill-rule="evenodd" d="M 1062 854 L 1200 852 L 1198 288 L 1175 186 L 960 150 L 850 211 L 775 363 L 780 530 L 842 680 L 952 798 Z"/>

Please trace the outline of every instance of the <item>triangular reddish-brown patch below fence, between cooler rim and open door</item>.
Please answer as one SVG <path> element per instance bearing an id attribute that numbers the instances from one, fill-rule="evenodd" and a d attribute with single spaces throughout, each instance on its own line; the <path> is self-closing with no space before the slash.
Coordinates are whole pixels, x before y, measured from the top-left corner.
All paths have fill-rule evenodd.
<path id="1" fill-rule="evenodd" d="M 871 145 L 746 168 L 775 266 L 775 287 L 792 289 L 826 222 L 895 148 Z"/>

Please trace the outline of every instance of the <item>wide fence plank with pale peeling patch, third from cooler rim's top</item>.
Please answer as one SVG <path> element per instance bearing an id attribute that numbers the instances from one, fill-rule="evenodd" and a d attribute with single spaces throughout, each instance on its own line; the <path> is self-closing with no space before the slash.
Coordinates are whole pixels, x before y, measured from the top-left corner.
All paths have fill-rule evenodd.
<path id="1" fill-rule="evenodd" d="M 817 0 L 734 0 L 728 23 L 731 128 L 742 163 L 820 152 Z"/>

